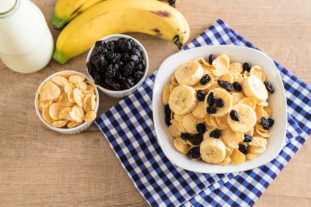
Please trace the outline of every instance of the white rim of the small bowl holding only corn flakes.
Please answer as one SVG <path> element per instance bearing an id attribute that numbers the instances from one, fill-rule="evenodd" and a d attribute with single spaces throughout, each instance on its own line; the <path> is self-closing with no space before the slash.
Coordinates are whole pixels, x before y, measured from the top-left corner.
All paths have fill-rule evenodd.
<path id="1" fill-rule="evenodd" d="M 58 132 L 74 132 L 77 130 L 80 130 L 81 128 L 85 127 L 85 125 L 92 123 L 93 121 L 89 121 L 89 122 L 83 122 L 82 124 L 80 124 L 79 126 L 73 127 L 73 128 L 57 128 L 52 126 L 51 124 L 49 124 L 48 122 L 46 122 L 46 120 L 44 120 L 44 118 L 42 117 L 42 112 L 39 110 L 38 105 L 37 105 L 37 100 L 39 99 L 39 89 L 40 87 L 45 84 L 48 80 L 50 80 L 52 77 L 60 74 L 60 73 L 76 73 L 78 75 L 83 75 L 85 77 L 86 80 L 90 81 L 90 79 L 83 73 L 80 73 L 78 71 L 75 70 L 63 70 L 63 71 L 59 71 L 56 73 L 53 73 L 52 75 L 50 75 L 49 77 L 47 77 L 44 81 L 42 81 L 42 83 L 39 85 L 37 91 L 36 91 L 36 95 L 35 95 L 35 109 L 36 109 L 36 113 L 38 115 L 38 117 L 40 118 L 40 120 L 46 125 L 48 126 L 50 129 L 54 130 L 54 131 L 58 131 Z M 94 88 L 94 92 L 96 95 L 96 106 L 94 109 L 94 112 L 97 114 L 98 108 L 99 108 L 99 93 L 97 88 Z"/>

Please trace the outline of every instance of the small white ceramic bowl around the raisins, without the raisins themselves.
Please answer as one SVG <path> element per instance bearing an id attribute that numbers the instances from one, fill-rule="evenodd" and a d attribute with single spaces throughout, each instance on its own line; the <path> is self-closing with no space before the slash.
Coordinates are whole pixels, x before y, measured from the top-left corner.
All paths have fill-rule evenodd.
<path id="1" fill-rule="evenodd" d="M 135 38 L 133 38 L 131 36 L 128 36 L 128 35 L 123 35 L 123 34 L 113 34 L 113 35 L 105 36 L 105 37 L 99 39 L 98 41 L 104 40 L 107 43 L 108 41 L 118 40 L 119 38 L 126 38 L 126 39 L 131 38 L 131 39 L 134 40 L 135 45 L 138 45 L 138 46 L 140 46 L 142 48 L 142 50 L 143 50 L 143 57 L 144 57 L 145 62 L 146 62 L 146 69 L 145 69 L 144 77 L 136 85 L 134 85 L 132 88 L 127 89 L 127 90 L 112 91 L 112 90 L 105 89 L 104 87 L 102 87 L 102 86 L 97 84 L 98 89 L 102 93 L 104 93 L 107 96 L 110 96 L 112 98 L 123 98 L 123 97 L 126 97 L 126 96 L 132 94 L 134 91 L 136 91 L 143 84 L 143 82 L 145 81 L 145 79 L 147 77 L 147 73 L 148 73 L 148 68 L 149 68 L 149 59 L 148 59 L 147 51 L 144 48 L 144 46 L 138 40 L 136 40 Z M 95 44 L 89 50 L 89 52 L 87 54 L 87 57 L 86 57 L 86 62 L 88 62 L 90 57 L 92 56 L 94 48 L 95 48 Z M 93 83 L 95 83 L 93 77 L 88 73 L 87 69 L 86 69 L 86 72 L 87 72 L 89 78 L 91 79 L 91 81 Z"/>

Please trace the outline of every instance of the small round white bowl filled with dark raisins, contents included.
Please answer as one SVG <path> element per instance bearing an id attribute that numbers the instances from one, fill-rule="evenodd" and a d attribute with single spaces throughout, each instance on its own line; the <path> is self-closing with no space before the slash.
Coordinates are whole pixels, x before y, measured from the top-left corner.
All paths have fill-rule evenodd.
<path id="1" fill-rule="evenodd" d="M 148 54 L 135 38 L 124 34 L 105 36 L 92 46 L 86 58 L 89 78 L 112 98 L 123 98 L 145 81 Z"/>

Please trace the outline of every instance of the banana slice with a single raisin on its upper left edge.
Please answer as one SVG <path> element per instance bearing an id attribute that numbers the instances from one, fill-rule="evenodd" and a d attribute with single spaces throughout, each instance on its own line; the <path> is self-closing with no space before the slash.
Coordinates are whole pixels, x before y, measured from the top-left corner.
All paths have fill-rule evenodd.
<path id="1" fill-rule="evenodd" d="M 230 113 L 227 115 L 227 122 L 234 132 L 246 133 L 254 127 L 257 118 L 252 107 L 246 104 L 235 104 L 233 105 L 232 110 L 235 110 L 240 118 L 239 121 L 234 121 L 231 118 Z"/>

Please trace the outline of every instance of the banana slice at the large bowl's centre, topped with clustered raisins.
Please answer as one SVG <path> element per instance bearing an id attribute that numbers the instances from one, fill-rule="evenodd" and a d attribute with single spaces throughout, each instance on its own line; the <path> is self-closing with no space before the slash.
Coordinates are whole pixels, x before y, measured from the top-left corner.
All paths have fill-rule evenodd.
<path id="1" fill-rule="evenodd" d="M 209 106 L 209 104 L 207 104 L 207 99 L 211 92 L 214 92 L 215 99 L 221 98 L 225 102 L 224 107 L 216 107 L 217 112 L 212 113 L 211 115 L 212 116 L 223 116 L 226 113 L 228 113 L 231 110 L 232 105 L 233 105 L 232 96 L 230 95 L 228 91 L 226 91 L 225 89 L 221 89 L 221 88 L 215 88 L 209 91 L 209 93 L 205 96 L 205 100 L 204 100 L 205 108 Z M 215 104 L 213 106 L 215 107 Z"/>

